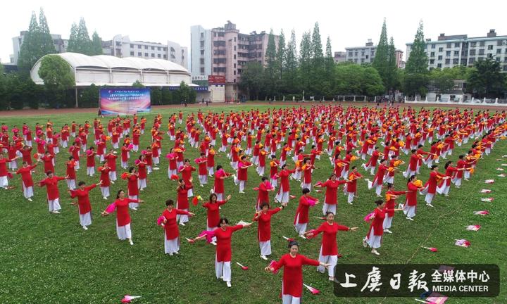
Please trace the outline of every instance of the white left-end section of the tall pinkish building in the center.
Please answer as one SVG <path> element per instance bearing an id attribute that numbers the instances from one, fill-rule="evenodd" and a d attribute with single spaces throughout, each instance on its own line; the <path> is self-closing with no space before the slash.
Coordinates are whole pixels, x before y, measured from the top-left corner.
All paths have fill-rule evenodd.
<path id="1" fill-rule="evenodd" d="M 192 76 L 211 75 L 211 30 L 206 30 L 201 25 L 193 25 L 190 27 L 190 37 Z"/>

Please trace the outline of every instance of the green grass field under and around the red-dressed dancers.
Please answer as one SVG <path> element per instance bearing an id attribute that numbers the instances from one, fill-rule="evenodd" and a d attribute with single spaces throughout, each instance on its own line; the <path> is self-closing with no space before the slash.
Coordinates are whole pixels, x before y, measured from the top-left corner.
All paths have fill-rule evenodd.
<path id="1" fill-rule="evenodd" d="M 256 106 L 266 110 L 267 106 Z M 214 111 L 248 110 L 249 106 L 211 107 Z M 184 115 L 196 108 L 184 108 Z M 162 110 L 163 131 L 173 109 Z M 156 113 L 146 115 L 149 124 Z M 9 126 L 27 122 L 32 128 L 35 122 L 44 123 L 48 118 L 60 129 L 65 122 L 70 123 L 92 121 L 94 114 L 51 115 L 51 117 L 9 117 L 2 118 Z M 105 122 L 105 119 L 103 119 Z M 149 124 L 146 128 L 149 128 Z M 148 132 L 149 133 L 149 132 Z M 145 134 L 142 145 L 148 143 L 149 134 Z M 89 137 L 90 138 L 90 137 Z M 218 144 L 217 140 L 217 144 Z M 168 147 L 173 146 L 167 138 L 163 141 L 163 156 Z M 185 157 L 194 159 L 198 152 L 187 146 Z M 466 146 L 466 147 L 465 147 Z M 456 162 L 458 155 L 468 149 L 468 145 L 456 147 L 449 159 Z M 339 263 L 494 263 L 501 268 L 501 294 L 497 298 L 450 298 L 448 303 L 507 303 L 506 292 L 506 179 L 497 177 L 503 154 L 507 154 L 506 141 L 496 144 L 491 156 L 481 160 L 470 182 L 463 182 L 461 189 L 451 188 L 450 197 L 438 196 L 434 199 L 435 208 L 427 208 L 423 196 L 418 196 L 419 207 L 414 222 L 396 215 L 393 221 L 393 234 L 384 236 L 380 256 L 363 248 L 361 239 L 368 231 L 368 223 L 363 217 L 370 213 L 375 205 L 375 194 L 368 191 L 364 181 L 358 182 L 358 195 L 353 205 L 345 201 L 339 191 L 339 204 L 335 220 L 349 227 L 358 226 L 357 232 L 338 234 L 339 252 L 343 258 Z M 110 147 L 110 146 L 108 146 Z M 308 148 L 309 150 L 309 148 Z M 426 150 L 428 148 L 426 147 Z M 67 151 L 61 149 L 56 160 L 56 173 L 65 175 L 64 160 Z M 132 153 L 131 162 L 137 158 Z M 407 156 L 402 157 L 407 160 Z M 504 158 L 503 163 L 507 163 Z M 215 158 L 215 163 L 232 172 L 229 160 L 224 153 Z M 288 161 L 292 166 L 292 160 Z M 357 165 L 361 163 L 357 162 Z M 227 289 L 223 281 L 215 279 L 214 255 L 215 247 L 198 242 L 190 244 L 184 237 L 196 236 L 206 229 L 206 210 L 191 205 L 196 213 L 187 226 L 180 227 L 183 239 L 180 255 L 163 254 L 163 229 L 156 225 L 156 219 L 165 208 L 167 198 L 175 199 L 176 184 L 168 180 L 168 162 L 161 157 L 161 170 L 154 171 L 148 177 L 148 188 L 140 198 L 146 201 L 139 210 L 131 211 L 132 236 L 134 246 L 126 241 L 118 241 L 115 233 L 115 215 L 101 217 L 100 212 L 111 203 L 118 189 L 126 189 L 126 182 L 118 179 L 111 185 L 111 200 L 104 201 L 100 190 L 94 189 L 92 201 L 93 224 L 84 231 L 79 224 L 77 208 L 70 205 L 70 197 L 65 191 L 65 182 L 60 184 L 61 205 L 60 215 L 50 215 L 47 210 L 45 189 L 35 189 L 32 203 L 26 201 L 20 191 L 20 177 L 11 179 L 10 184 L 16 188 L 0 191 L 0 303 L 120 303 L 125 294 L 142 296 L 133 303 L 280 303 L 278 295 L 281 289 L 282 274 L 267 274 L 263 267 L 268 263 L 259 258 L 256 241 L 256 227 L 244 229 L 232 238 L 232 289 Z M 314 183 L 324 181 L 332 171 L 327 155 L 317 160 L 318 170 L 313 175 Z M 42 165 L 41 165 L 42 166 Z M 442 165 L 443 166 L 443 165 Z M 404 168 L 404 167 L 403 167 Z M 507 169 L 506 169 L 507 170 Z M 440 170 L 443 172 L 443 168 Z M 118 165 L 118 177 L 123 172 Z M 268 170 L 267 170 L 268 172 Z M 360 169 L 360 172 L 365 172 Z M 82 168 L 77 181 L 84 180 L 87 184 L 98 182 L 99 177 L 87 177 Z M 429 175 L 427 167 L 421 170 L 420 179 L 425 181 Z M 34 181 L 43 178 L 42 170 L 37 170 Z M 494 178 L 495 184 L 484 184 L 484 179 Z M 198 182 L 196 176 L 194 181 Z M 213 185 L 196 186 L 194 195 L 200 194 L 205 199 Z M 232 179 L 226 179 L 225 189 L 232 194 L 232 200 L 224 205 L 221 215 L 232 223 L 239 220 L 251 221 L 253 206 L 257 193 L 251 190 L 258 186 L 260 177 L 254 168 L 249 170 L 249 182 L 246 194 L 238 194 L 237 186 Z M 396 189 L 405 190 L 406 181 L 396 175 Z M 291 182 L 292 194 L 299 197 L 301 190 L 298 182 Z M 492 194 L 480 194 L 480 189 L 492 189 Z M 323 201 L 324 191 L 312 192 Z M 482 203 L 481 197 L 494 196 L 492 203 Z M 273 199 L 273 195 L 271 196 Z M 399 200 L 402 201 L 402 200 Z M 297 200 L 291 200 L 288 208 L 278 213 L 272 220 L 273 258 L 287 252 L 287 241 L 282 236 L 294 237 L 292 225 Z M 475 210 L 489 210 L 490 215 L 473 215 Z M 320 220 L 312 216 L 320 216 L 321 205 L 311 208 L 311 220 L 308 229 L 316 228 Z M 468 232 L 465 225 L 480 224 L 478 232 Z M 454 239 L 468 239 L 470 248 L 454 245 Z M 318 258 L 320 237 L 312 240 L 298 240 L 301 253 L 311 258 Z M 437 247 L 439 251 L 432 253 L 420 246 Z M 249 267 L 242 271 L 235 262 Z M 413 298 L 336 298 L 332 292 L 332 283 L 327 281 L 327 274 L 320 274 L 314 267 L 306 267 L 303 272 L 304 282 L 321 293 L 313 296 L 303 291 L 303 303 L 416 303 Z"/>

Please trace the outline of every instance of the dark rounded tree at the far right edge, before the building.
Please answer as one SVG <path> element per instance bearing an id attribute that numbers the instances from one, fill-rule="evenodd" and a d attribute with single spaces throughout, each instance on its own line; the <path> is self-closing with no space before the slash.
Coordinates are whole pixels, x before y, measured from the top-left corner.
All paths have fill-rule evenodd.
<path id="1" fill-rule="evenodd" d="M 477 97 L 496 98 L 507 89 L 506 75 L 493 58 L 477 61 L 468 76 L 467 87 Z"/>

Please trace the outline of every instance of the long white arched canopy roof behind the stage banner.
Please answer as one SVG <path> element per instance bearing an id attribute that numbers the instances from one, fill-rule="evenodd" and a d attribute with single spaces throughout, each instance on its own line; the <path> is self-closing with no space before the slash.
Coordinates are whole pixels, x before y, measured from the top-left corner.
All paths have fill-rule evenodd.
<path id="1" fill-rule="evenodd" d="M 182 81 L 195 87 L 187 68 L 163 59 L 86 56 L 81 53 L 59 53 L 46 56 L 55 55 L 60 56 L 70 65 L 75 75 L 76 87 L 87 87 L 91 84 L 130 87 L 136 80 L 146 87 L 179 87 Z M 44 84 L 39 77 L 42 58 L 30 71 L 30 77 L 36 84 Z"/>

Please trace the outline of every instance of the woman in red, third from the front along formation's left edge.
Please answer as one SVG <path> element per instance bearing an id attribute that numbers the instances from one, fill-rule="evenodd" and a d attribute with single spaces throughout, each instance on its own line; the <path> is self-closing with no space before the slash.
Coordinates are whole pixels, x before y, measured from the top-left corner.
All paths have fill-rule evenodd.
<path id="1" fill-rule="evenodd" d="M 178 254 L 180 251 L 180 230 L 177 227 L 177 215 L 193 216 L 194 213 L 174 208 L 174 201 L 168 199 L 165 201 L 165 210 L 163 210 L 164 227 L 164 253 L 168 255 Z"/>

